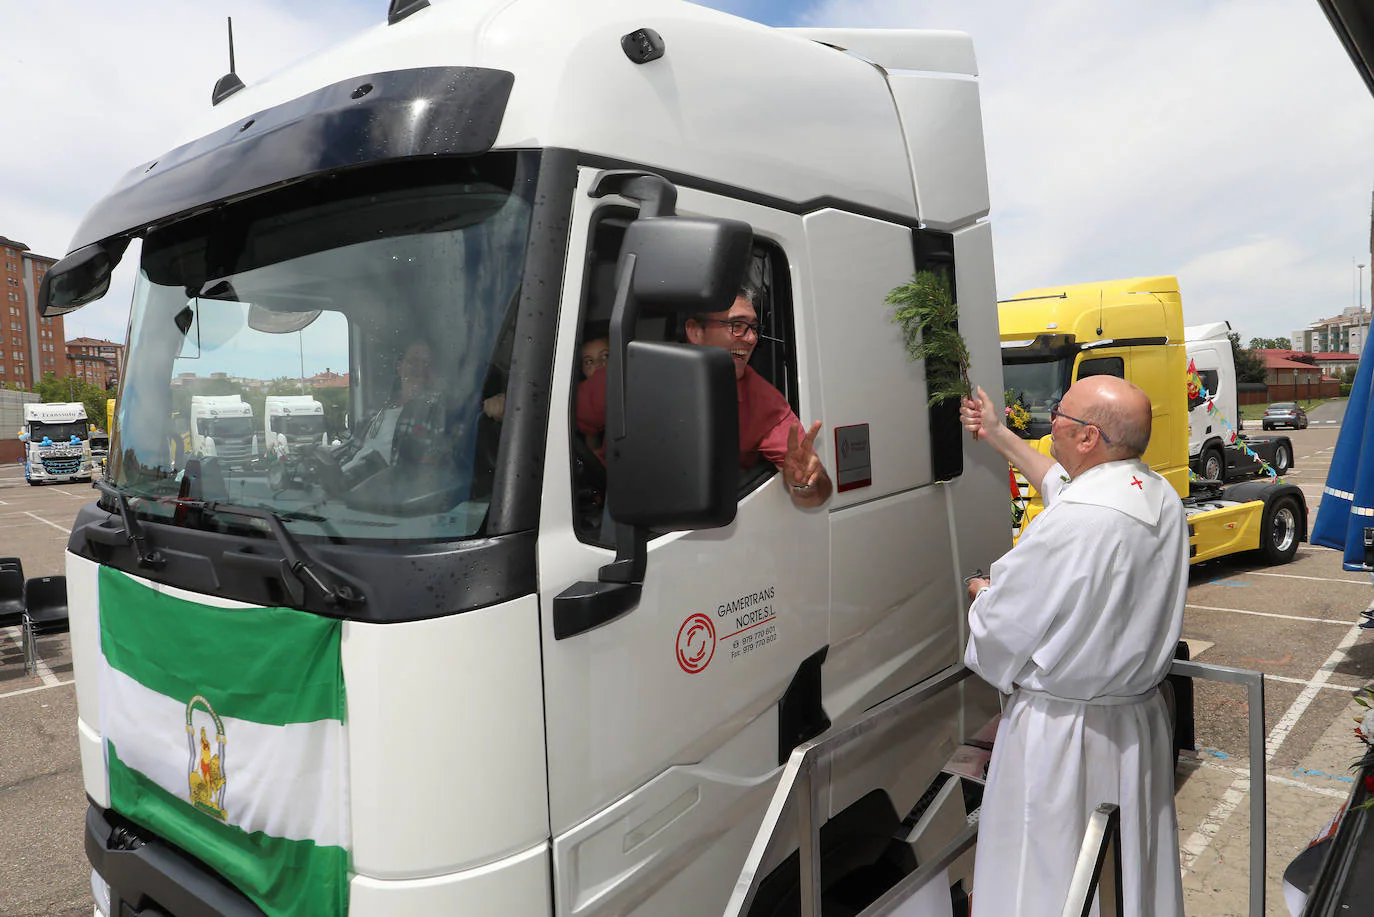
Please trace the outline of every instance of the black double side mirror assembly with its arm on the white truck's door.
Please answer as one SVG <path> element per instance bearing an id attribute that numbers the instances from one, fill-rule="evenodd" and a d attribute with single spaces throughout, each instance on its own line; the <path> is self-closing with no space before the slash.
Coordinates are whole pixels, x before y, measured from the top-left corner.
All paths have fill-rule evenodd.
<path id="1" fill-rule="evenodd" d="M 574 583 L 555 597 L 555 639 L 633 610 L 650 528 L 713 528 L 735 518 L 739 412 L 730 355 L 633 338 L 643 307 L 683 316 L 728 309 L 752 247 L 753 230 L 738 220 L 654 212 L 625 230 L 606 366 L 606 489 L 617 522 L 616 560 L 598 582 Z"/>

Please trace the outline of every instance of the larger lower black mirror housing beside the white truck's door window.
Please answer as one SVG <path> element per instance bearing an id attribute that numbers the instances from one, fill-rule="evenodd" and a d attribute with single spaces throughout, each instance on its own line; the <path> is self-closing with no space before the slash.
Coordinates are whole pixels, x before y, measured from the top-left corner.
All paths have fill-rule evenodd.
<path id="1" fill-rule="evenodd" d="M 617 522 L 655 529 L 730 525 L 739 488 L 739 414 L 730 353 L 632 341 L 625 436 L 606 448 Z"/>

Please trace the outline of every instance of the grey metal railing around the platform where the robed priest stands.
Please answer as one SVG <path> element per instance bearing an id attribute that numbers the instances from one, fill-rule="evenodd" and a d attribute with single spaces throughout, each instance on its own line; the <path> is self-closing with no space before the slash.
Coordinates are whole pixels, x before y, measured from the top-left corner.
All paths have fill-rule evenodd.
<path id="1" fill-rule="evenodd" d="M 820 806 L 822 785 L 818 780 L 820 760 L 835 751 L 853 744 L 863 736 L 867 736 L 877 729 L 890 726 L 907 716 L 911 716 L 919 707 L 930 701 L 933 697 L 954 687 L 970 675 L 973 675 L 971 670 L 967 670 L 963 665 L 951 665 L 919 685 L 908 687 L 896 697 L 878 704 L 872 709 L 867 711 L 857 722 L 835 730 L 822 738 L 802 742 L 794 748 L 791 756 L 787 759 L 787 764 L 783 767 L 782 777 L 778 781 L 774 796 L 768 803 L 768 810 L 764 813 L 764 821 L 758 828 L 758 833 L 754 836 L 753 846 L 749 848 L 749 855 L 745 858 L 745 866 L 739 872 L 735 890 L 731 892 L 730 902 L 725 905 L 725 917 L 743 917 L 749 913 L 754 895 L 758 892 L 758 885 L 764 879 L 761 874 L 763 865 L 768 861 L 772 848 L 779 843 L 780 828 L 786 824 L 787 815 L 793 811 L 793 808 L 797 810 L 797 832 L 801 839 L 798 846 L 798 859 L 801 868 L 801 917 L 820 917 L 820 822 L 824 818 Z M 1249 731 L 1250 747 L 1249 914 L 1250 917 L 1264 917 L 1264 676 L 1261 672 L 1249 670 L 1230 668 L 1227 665 L 1208 665 L 1206 663 L 1186 660 L 1175 660 L 1173 665 L 1169 668 L 1169 675 L 1201 678 L 1213 682 L 1230 682 L 1234 685 L 1243 685 L 1246 687 L 1246 697 L 1249 701 L 1246 727 Z M 1099 807 L 1098 811 L 1094 813 L 1092 819 L 1098 818 L 1102 808 L 1103 807 Z M 1117 807 L 1107 806 L 1107 808 L 1116 810 Z M 1070 885 L 1070 894 L 1065 903 L 1065 917 L 1069 917 L 1070 914 L 1076 917 L 1080 913 L 1085 914 L 1087 910 L 1081 910 L 1081 907 L 1091 907 L 1094 888 L 1110 890 L 1116 899 L 1120 899 L 1120 844 L 1110 843 L 1112 850 L 1106 848 L 1109 841 L 1118 840 L 1120 837 L 1118 819 L 1120 813 L 1114 811 L 1107 822 L 1102 825 L 1101 837 L 1094 833 L 1094 825 L 1096 822 L 1090 821 L 1088 836 L 1084 840 L 1084 850 L 1087 851 L 1092 847 L 1094 858 L 1090 861 L 1091 869 L 1084 879 L 1084 881 L 1091 885 L 1087 888 L 1087 903 L 1081 905 L 1077 912 L 1072 910 L 1074 902 L 1077 901 L 1076 894 L 1081 892 L 1079 885 L 1079 872 L 1083 869 L 1084 852 L 1080 852 L 1079 868 L 1074 870 L 1074 880 Z M 1109 828 L 1112 828 L 1112 830 L 1107 830 Z M 969 818 L 967 826 L 955 835 L 955 837 L 951 839 L 938 854 L 927 862 L 921 863 L 915 872 L 904 876 L 878 901 L 866 907 L 859 917 L 886 917 L 893 913 L 904 901 L 915 895 L 926 883 L 936 876 L 943 874 L 960 854 L 973 847 L 977 841 L 977 836 L 978 822 L 977 815 L 973 815 Z M 1094 841 L 1096 846 L 1090 844 L 1090 841 Z M 1098 846 L 1102 847 L 1102 855 L 1096 855 L 1099 852 L 1096 850 Z M 1102 868 L 1109 862 L 1106 854 L 1112 854 L 1114 872 L 1106 881 L 1101 881 Z M 1103 909 L 1101 913 L 1102 917 L 1109 917 L 1107 910 Z M 1116 913 L 1120 914 L 1120 902 Z"/>

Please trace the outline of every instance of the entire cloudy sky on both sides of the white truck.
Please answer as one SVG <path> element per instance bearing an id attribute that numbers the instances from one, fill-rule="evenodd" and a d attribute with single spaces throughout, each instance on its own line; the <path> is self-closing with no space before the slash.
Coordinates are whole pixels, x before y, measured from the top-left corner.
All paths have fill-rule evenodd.
<path id="1" fill-rule="evenodd" d="M 386 5 L 8 0 L 0 235 L 66 254 L 85 210 L 209 107 L 225 16 L 251 85 L 382 22 Z M 971 34 L 999 298 L 1176 275 L 1189 324 L 1228 320 L 1245 342 L 1374 302 L 1374 98 L 1316 0 L 705 5 L 774 26 Z M 124 340 L 132 261 L 67 316 L 69 338 Z"/>

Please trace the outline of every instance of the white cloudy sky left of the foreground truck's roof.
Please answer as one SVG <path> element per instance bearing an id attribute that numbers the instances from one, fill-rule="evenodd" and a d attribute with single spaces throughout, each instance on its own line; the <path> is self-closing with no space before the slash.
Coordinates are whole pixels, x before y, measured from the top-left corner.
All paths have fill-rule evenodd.
<path id="1" fill-rule="evenodd" d="M 85 212 L 131 168 L 172 148 L 228 70 L 234 16 L 245 82 L 386 16 L 383 0 L 300 7 L 272 0 L 54 0 L 5 4 L 0 85 L 0 235 L 60 258 Z M 21 89 L 22 88 L 22 89 Z M 67 335 L 122 340 L 132 258 Z"/>

